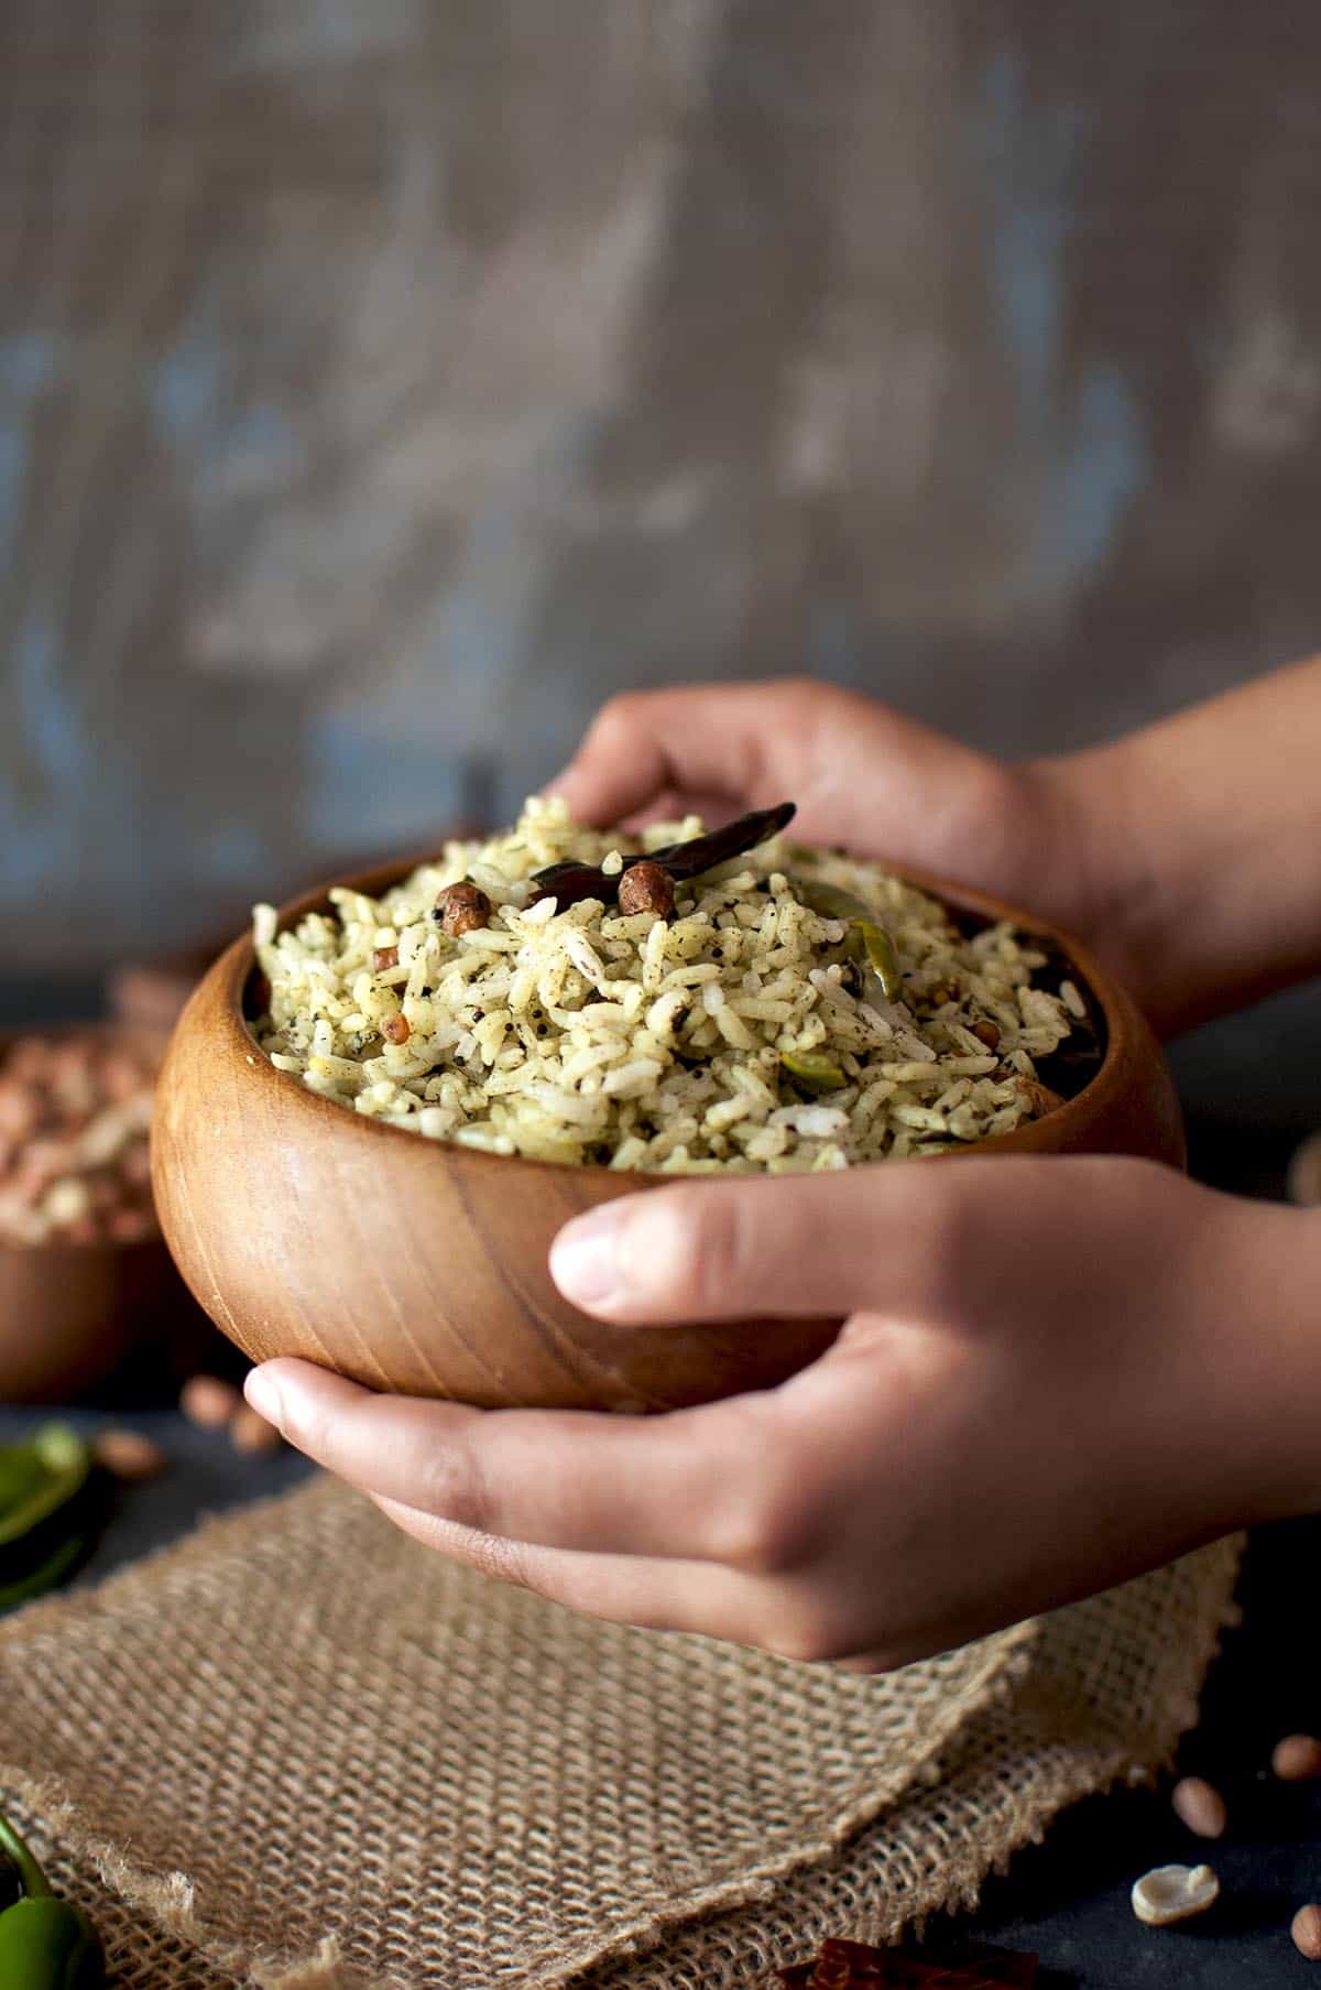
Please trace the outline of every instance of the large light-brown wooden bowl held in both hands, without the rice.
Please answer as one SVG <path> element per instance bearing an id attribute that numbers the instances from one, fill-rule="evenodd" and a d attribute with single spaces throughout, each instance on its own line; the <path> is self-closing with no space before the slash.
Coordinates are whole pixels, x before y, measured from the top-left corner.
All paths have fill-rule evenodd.
<path id="1" fill-rule="evenodd" d="M 412 866 L 352 880 L 380 896 Z M 1064 1106 L 977 1154 L 1144 1154 L 1184 1132 L 1144 1019 L 1090 953 L 997 899 L 911 872 L 961 917 L 1009 917 L 1060 949 L 1104 1019 L 1104 1057 Z M 326 907 L 326 890 L 281 925 Z M 155 1200 L 195 1297 L 253 1361 L 302 1355 L 374 1389 L 483 1407 L 666 1409 L 768 1387 L 838 1321 L 639 1333 L 589 1319 L 547 1272 L 563 1222 L 655 1174 L 481 1154 L 364 1118 L 277 1071 L 245 1027 L 251 939 L 195 989 L 157 1087 Z M 885 1166 L 879 1162 L 877 1166 Z"/>

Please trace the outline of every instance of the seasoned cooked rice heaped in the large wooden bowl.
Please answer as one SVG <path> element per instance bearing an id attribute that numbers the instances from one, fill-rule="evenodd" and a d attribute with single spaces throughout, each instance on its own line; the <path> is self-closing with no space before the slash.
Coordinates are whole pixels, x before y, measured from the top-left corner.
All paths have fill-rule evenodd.
<path id="1" fill-rule="evenodd" d="M 286 933 L 259 905 L 271 1007 L 257 1043 L 326 1098 L 432 1140 L 664 1174 L 925 1154 L 1009 1132 L 1048 1102 L 1035 1061 L 1076 1027 L 1078 991 L 1033 987 L 1044 955 L 1027 937 L 995 925 L 969 939 L 875 866 L 778 838 L 680 884 L 668 923 L 597 899 L 533 901 L 527 880 L 547 864 L 615 870 L 619 850 L 700 828 L 690 818 L 629 840 L 533 798 L 511 834 L 448 844 L 380 899 L 336 890 L 332 913 Z M 452 939 L 434 907 L 462 878 L 493 911 Z M 875 909 L 903 1001 L 875 983 L 865 999 L 846 925 L 808 909 L 798 878 Z M 388 947 L 398 965 L 376 973 L 372 953 Z M 410 1035 L 394 1045 L 382 1027 L 400 1011 Z M 842 1089 L 814 1096 L 782 1053 L 832 1059 Z"/>

